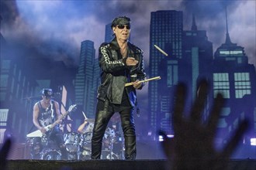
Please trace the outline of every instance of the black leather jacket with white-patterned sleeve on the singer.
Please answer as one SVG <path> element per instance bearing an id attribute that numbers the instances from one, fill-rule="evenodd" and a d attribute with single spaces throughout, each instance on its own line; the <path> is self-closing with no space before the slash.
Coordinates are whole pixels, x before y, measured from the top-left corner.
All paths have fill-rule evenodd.
<path id="1" fill-rule="evenodd" d="M 112 42 L 102 43 L 99 47 L 99 66 L 102 70 L 101 85 L 98 89 L 98 99 L 108 99 L 112 104 L 121 104 L 123 91 L 126 88 L 132 107 L 137 104 L 136 90 L 133 86 L 125 87 L 125 83 L 135 80 L 145 80 L 143 51 L 128 42 L 128 57 L 134 57 L 139 62 L 137 66 L 126 66 L 126 58 L 122 58 L 116 38 Z M 128 78 L 127 78 L 128 77 Z M 142 86 L 140 89 L 144 86 Z"/>

